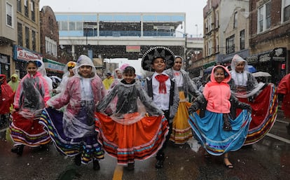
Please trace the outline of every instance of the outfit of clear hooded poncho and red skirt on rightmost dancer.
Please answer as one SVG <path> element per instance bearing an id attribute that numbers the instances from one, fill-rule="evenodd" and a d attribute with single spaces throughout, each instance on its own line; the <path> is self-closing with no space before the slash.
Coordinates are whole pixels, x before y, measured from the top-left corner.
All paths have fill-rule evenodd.
<path id="1" fill-rule="evenodd" d="M 235 65 L 244 62 L 244 71 L 235 71 Z M 267 134 L 277 118 L 278 99 L 277 88 L 274 84 L 257 83 L 256 78 L 248 71 L 247 61 L 235 55 L 230 64 L 232 83 L 230 88 L 233 95 L 241 102 L 251 105 L 251 123 L 244 145 L 254 144 Z M 240 110 L 237 110 L 237 114 Z"/>

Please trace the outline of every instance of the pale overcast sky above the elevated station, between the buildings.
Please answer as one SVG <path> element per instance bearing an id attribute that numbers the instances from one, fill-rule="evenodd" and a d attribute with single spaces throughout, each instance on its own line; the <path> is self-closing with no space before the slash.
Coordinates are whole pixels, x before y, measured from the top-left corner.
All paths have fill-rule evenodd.
<path id="1" fill-rule="evenodd" d="M 207 0 L 40 0 L 40 10 L 54 12 L 176 12 L 186 13 L 186 33 L 202 34 L 202 10 Z M 198 26 L 195 26 L 198 25 Z"/>

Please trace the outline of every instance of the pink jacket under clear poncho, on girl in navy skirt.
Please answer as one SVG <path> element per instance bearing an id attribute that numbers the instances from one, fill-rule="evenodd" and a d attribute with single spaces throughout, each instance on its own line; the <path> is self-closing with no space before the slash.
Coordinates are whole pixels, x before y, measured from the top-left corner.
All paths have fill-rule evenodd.
<path id="1" fill-rule="evenodd" d="M 81 79 L 80 76 L 69 78 L 64 91 L 50 99 L 48 105 L 53 106 L 55 109 L 60 109 L 62 106 L 67 105 L 68 113 L 77 114 L 81 109 Z M 106 89 L 101 78 L 97 75 L 91 78 L 90 85 L 92 88 L 92 96 L 95 104 L 97 104 L 106 95 Z"/>

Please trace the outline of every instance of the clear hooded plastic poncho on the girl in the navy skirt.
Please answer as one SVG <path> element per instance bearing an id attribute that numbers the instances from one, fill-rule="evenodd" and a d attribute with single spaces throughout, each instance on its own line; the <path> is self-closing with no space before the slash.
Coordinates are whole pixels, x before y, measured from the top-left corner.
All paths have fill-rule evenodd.
<path id="1" fill-rule="evenodd" d="M 82 66 L 92 67 L 88 78 L 79 74 Z M 73 71 L 74 76 L 69 78 L 67 87 L 51 98 L 48 105 L 55 109 L 67 105 L 62 118 L 62 127 L 67 137 L 88 137 L 95 134 L 95 106 L 106 95 L 106 90 L 88 56 L 81 55 Z"/>

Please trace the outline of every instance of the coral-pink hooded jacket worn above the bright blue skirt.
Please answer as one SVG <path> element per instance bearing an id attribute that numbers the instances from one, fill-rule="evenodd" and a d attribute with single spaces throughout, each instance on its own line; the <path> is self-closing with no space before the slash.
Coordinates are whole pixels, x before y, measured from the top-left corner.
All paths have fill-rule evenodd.
<path id="1" fill-rule="evenodd" d="M 216 66 L 223 67 L 223 66 Z M 230 113 L 230 86 L 228 82 L 230 81 L 230 71 L 226 67 L 223 69 L 226 70 L 228 76 L 221 82 L 217 83 L 214 79 L 214 67 L 212 69 L 212 74 L 210 76 L 210 81 L 205 85 L 203 90 L 203 95 L 207 99 L 207 111 L 214 113 Z"/>

